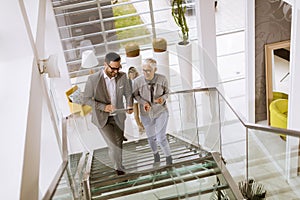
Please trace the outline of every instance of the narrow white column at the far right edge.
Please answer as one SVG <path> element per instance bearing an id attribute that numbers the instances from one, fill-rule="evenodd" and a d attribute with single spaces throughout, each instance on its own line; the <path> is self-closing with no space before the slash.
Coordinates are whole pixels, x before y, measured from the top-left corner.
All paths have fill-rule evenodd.
<path id="1" fill-rule="evenodd" d="M 290 91 L 289 91 L 289 110 L 288 128 L 300 130 L 300 2 L 294 1 L 292 5 L 292 33 L 291 33 L 291 62 L 290 62 Z M 297 34 L 298 33 L 298 34 Z M 286 144 L 286 176 L 289 180 L 297 176 L 299 166 L 298 157 L 299 138 L 287 137 Z"/>

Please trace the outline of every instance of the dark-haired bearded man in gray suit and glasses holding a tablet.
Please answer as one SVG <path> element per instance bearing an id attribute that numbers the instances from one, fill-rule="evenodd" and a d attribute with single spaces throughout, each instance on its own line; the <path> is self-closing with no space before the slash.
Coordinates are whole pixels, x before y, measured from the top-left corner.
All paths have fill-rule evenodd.
<path id="1" fill-rule="evenodd" d="M 84 100 L 92 106 L 92 123 L 97 126 L 109 150 L 109 157 L 117 175 L 124 175 L 122 147 L 124 139 L 125 112 L 123 97 L 126 99 L 127 113 L 132 113 L 132 93 L 126 73 L 120 72 L 121 57 L 115 52 L 107 53 L 104 69 L 88 77 L 84 90 Z"/>

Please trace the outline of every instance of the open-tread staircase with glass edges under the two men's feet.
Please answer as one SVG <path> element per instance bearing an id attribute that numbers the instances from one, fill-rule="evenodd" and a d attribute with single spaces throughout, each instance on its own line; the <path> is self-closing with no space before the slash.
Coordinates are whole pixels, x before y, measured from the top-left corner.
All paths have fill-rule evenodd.
<path id="1" fill-rule="evenodd" d="M 209 153 L 168 135 L 172 166 L 153 168 L 153 154 L 146 139 L 123 146 L 126 174 L 117 176 L 110 166 L 108 149 L 95 150 L 90 159 L 87 199 L 237 199 L 224 176 L 218 154 Z M 222 198 L 221 198 L 222 197 Z M 230 198 L 229 198 L 230 197 Z"/>

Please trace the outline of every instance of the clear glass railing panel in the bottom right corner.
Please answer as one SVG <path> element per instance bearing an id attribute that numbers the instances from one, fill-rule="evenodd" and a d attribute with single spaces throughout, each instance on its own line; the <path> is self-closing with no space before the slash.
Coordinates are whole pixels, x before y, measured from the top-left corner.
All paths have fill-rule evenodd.
<path id="1" fill-rule="evenodd" d="M 248 131 L 249 179 L 263 185 L 270 199 L 297 199 L 300 195 L 299 138 L 287 137 L 296 141 L 292 148 L 277 133 Z"/>

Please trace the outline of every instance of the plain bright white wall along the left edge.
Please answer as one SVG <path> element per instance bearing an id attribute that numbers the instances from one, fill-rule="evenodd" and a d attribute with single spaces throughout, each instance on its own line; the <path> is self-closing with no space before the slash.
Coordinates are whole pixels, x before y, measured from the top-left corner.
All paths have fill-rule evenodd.
<path id="1" fill-rule="evenodd" d="M 17 0 L 0 6 L 0 196 L 19 199 L 33 54 Z"/>

